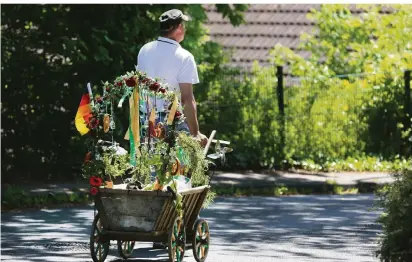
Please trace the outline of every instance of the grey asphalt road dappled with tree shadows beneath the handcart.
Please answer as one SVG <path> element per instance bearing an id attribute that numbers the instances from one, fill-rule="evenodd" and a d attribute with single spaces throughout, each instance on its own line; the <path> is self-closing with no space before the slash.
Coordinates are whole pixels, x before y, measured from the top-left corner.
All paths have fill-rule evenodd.
<path id="1" fill-rule="evenodd" d="M 373 195 L 219 198 L 208 220 L 207 261 L 378 261 Z M 92 261 L 93 208 L 2 213 L 2 261 Z M 167 261 L 166 250 L 137 243 L 128 261 Z M 123 261 L 112 241 L 106 261 Z M 186 262 L 194 262 L 190 250 Z"/>

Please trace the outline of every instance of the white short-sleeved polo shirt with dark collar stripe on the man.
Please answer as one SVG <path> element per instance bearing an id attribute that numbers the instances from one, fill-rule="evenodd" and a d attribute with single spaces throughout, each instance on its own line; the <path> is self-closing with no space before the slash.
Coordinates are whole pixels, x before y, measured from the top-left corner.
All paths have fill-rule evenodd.
<path id="1" fill-rule="evenodd" d="M 145 44 L 137 56 L 137 70 L 151 78 L 159 78 L 172 91 L 180 92 L 179 83 L 199 83 L 193 55 L 172 39 L 159 37 Z M 162 111 L 164 102 L 157 100 L 157 109 Z"/>

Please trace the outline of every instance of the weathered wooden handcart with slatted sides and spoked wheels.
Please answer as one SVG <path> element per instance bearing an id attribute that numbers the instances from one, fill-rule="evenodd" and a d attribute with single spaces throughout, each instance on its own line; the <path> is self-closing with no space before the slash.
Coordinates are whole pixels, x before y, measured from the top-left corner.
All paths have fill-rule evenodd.
<path id="1" fill-rule="evenodd" d="M 90 235 L 94 262 L 102 262 L 110 240 L 117 240 L 119 255 L 131 256 L 135 241 L 167 243 L 169 261 L 183 261 L 186 243 L 192 243 L 196 261 L 205 261 L 209 250 L 209 225 L 198 215 L 209 186 L 181 191 L 183 218 L 176 212 L 174 195 L 162 191 L 100 188 L 95 197 L 97 214 Z"/>

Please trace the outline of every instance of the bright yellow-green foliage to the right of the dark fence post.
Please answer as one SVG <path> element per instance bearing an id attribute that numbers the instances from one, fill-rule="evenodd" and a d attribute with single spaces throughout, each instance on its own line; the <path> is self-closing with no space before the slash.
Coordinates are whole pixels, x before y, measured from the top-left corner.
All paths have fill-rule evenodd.
<path id="1" fill-rule="evenodd" d="M 272 51 L 275 64 L 288 63 L 301 79 L 290 88 L 299 91 L 285 95 L 289 114 L 308 118 L 287 125 L 290 157 L 305 157 L 303 147 L 310 148 L 306 157 L 319 161 L 411 153 L 403 74 L 412 69 L 412 6 L 358 8 L 363 12 L 352 13 L 348 5 L 313 10 L 314 33 L 302 35 L 309 59 L 280 45 Z"/>

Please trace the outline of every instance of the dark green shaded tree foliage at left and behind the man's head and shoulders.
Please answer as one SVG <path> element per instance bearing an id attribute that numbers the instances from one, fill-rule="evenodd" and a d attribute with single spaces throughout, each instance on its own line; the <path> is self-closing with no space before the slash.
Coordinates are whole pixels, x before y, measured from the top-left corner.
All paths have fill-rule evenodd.
<path id="1" fill-rule="evenodd" d="M 172 8 L 193 18 L 182 45 L 194 54 L 201 81 L 213 79 L 226 58 L 205 37 L 201 5 L 2 5 L 5 181 L 77 172 L 85 152 L 73 119 L 83 88 L 134 70 L 140 47 L 157 37 L 158 17 Z M 246 8 L 219 5 L 218 11 L 238 25 Z M 117 124 L 126 123 L 120 112 Z"/>

